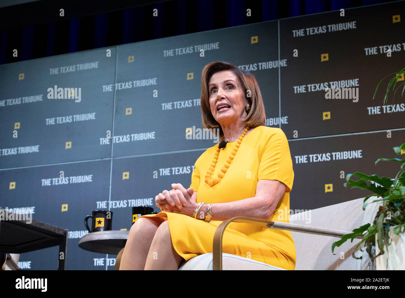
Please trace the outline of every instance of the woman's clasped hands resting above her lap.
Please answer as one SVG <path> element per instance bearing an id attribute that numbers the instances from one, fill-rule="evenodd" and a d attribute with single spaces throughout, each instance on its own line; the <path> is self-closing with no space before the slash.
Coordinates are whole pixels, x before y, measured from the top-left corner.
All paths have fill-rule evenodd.
<path id="1" fill-rule="evenodd" d="M 164 190 L 155 197 L 156 206 L 162 211 L 192 216 L 197 207 L 196 195 L 191 187 L 185 189 L 180 183 L 173 183 L 172 190 Z"/>

